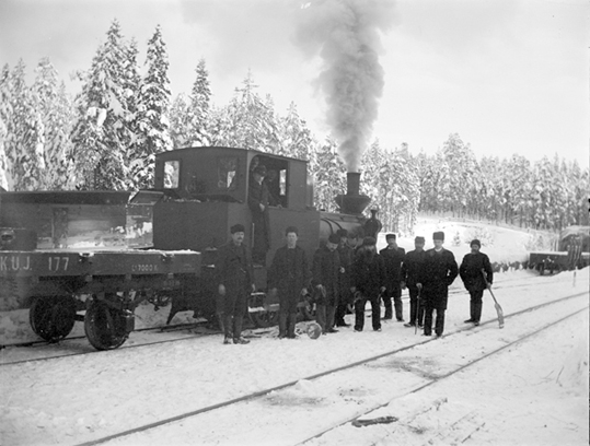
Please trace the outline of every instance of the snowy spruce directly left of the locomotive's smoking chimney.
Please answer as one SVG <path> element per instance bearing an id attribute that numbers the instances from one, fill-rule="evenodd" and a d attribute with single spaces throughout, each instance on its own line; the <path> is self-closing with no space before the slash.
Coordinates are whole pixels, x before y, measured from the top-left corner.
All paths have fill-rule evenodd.
<path id="1" fill-rule="evenodd" d="M 310 166 L 313 178 L 313 202 L 317 209 L 335 212 L 334 198 L 346 193 L 346 166 L 336 151 L 336 142 L 326 138 L 319 146 Z"/>

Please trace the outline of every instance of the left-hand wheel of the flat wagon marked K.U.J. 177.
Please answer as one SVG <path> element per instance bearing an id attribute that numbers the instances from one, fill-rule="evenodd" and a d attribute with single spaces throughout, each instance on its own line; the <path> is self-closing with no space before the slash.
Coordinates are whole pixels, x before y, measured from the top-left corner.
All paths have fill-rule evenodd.
<path id="1" fill-rule="evenodd" d="M 76 300 L 68 296 L 37 297 L 28 313 L 31 328 L 46 341 L 66 338 L 76 324 Z"/>

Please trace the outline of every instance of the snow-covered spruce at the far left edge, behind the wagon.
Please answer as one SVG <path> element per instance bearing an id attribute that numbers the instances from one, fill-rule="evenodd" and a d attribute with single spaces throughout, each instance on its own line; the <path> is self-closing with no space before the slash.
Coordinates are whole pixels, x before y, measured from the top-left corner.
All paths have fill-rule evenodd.
<path id="1" fill-rule="evenodd" d="M 25 64 L 21 59 L 5 81 L 9 92 L 4 141 L 8 184 L 12 190 L 37 190 L 41 187 L 38 178 L 45 172 L 45 129 L 24 78 Z"/>

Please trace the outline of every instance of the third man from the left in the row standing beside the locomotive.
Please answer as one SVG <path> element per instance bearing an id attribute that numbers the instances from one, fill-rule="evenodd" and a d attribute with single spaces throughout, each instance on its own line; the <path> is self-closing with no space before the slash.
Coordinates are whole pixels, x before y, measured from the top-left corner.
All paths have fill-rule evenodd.
<path id="1" fill-rule="evenodd" d="M 320 247 L 313 255 L 312 284 L 315 287 L 315 318 L 323 333 L 335 333 L 334 313 L 338 305 L 338 278 L 342 270 L 338 243 L 340 237 L 332 234 L 325 246 Z"/>

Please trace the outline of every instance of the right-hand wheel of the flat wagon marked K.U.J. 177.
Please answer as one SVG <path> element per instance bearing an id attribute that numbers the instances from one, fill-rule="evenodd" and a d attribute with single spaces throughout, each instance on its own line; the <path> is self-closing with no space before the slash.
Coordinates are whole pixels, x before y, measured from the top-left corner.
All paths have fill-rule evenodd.
<path id="1" fill-rule="evenodd" d="M 116 349 L 129 334 L 123 314 L 100 301 L 93 301 L 86 309 L 84 331 L 96 350 Z"/>

